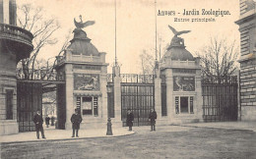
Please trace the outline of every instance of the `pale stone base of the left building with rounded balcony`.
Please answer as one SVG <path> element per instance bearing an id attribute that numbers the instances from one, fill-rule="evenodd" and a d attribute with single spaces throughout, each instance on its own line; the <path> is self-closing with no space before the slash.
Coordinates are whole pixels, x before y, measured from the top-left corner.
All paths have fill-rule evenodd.
<path id="1" fill-rule="evenodd" d="M 16 121 L 1 121 L 0 135 L 15 134 L 19 132 L 19 126 Z"/>

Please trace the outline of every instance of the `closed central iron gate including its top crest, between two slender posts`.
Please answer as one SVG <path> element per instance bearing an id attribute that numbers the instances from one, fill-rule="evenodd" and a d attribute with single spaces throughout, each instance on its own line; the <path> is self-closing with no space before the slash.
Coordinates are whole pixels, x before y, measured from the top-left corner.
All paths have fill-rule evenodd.
<path id="1" fill-rule="evenodd" d="M 134 126 L 149 126 L 151 108 L 155 108 L 155 85 L 152 75 L 121 75 L 121 109 L 123 126 L 127 110 L 134 114 Z"/>

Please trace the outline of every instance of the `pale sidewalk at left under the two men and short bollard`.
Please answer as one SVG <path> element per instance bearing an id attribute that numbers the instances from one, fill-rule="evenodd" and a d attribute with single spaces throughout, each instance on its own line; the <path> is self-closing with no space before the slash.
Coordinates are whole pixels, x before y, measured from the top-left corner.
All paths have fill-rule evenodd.
<path id="1" fill-rule="evenodd" d="M 52 128 L 43 128 L 46 139 L 37 139 L 36 132 L 19 132 L 18 134 L 1 135 L 0 142 L 24 142 L 24 141 L 47 141 L 47 140 L 69 140 L 88 137 L 111 137 L 133 134 L 127 128 L 112 128 L 113 135 L 106 135 L 104 130 L 80 130 L 79 137 L 71 137 L 72 130 L 55 130 Z M 41 137 L 41 133 L 40 133 Z"/>

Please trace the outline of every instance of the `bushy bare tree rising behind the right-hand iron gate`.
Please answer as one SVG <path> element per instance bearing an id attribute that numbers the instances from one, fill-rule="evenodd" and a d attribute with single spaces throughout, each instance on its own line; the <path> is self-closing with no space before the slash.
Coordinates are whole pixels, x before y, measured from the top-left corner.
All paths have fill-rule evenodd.
<path id="1" fill-rule="evenodd" d="M 231 76 L 237 69 L 238 46 L 235 41 L 228 43 L 226 39 L 211 38 L 209 45 L 197 55 L 201 58 L 203 74 L 210 79 L 218 77 L 220 81 L 221 77 Z"/>

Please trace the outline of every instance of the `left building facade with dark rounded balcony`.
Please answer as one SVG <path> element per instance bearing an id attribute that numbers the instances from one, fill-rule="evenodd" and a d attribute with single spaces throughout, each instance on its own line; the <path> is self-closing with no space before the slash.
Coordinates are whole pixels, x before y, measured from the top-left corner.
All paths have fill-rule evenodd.
<path id="1" fill-rule="evenodd" d="M 31 51 L 32 33 L 16 26 L 16 1 L 0 0 L 0 134 L 19 130 L 16 66 Z"/>

